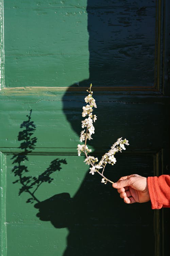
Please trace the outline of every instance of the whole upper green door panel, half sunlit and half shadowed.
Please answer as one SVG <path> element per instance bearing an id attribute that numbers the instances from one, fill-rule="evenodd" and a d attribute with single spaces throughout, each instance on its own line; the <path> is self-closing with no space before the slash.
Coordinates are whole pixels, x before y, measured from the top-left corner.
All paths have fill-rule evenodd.
<path id="1" fill-rule="evenodd" d="M 5 1 L 5 85 L 153 87 L 156 12 L 153 0 Z"/>

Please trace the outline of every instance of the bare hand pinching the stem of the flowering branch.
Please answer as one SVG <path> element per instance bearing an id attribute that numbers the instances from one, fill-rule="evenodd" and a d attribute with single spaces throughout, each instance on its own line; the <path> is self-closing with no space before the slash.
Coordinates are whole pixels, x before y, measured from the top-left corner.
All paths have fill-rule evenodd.
<path id="1" fill-rule="evenodd" d="M 112 186 L 117 189 L 126 204 L 143 203 L 150 200 L 147 178 L 138 174 L 121 177 Z"/>

